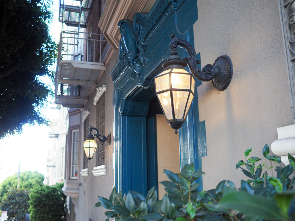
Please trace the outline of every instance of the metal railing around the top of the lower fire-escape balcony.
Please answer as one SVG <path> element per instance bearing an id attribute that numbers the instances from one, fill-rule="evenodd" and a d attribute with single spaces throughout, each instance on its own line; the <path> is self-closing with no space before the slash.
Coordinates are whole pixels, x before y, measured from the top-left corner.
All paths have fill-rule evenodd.
<path id="1" fill-rule="evenodd" d="M 63 31 L 60 33 L 58 62 L 61 60 L 99 62 L 106 40 L 102 34 Z"/>

